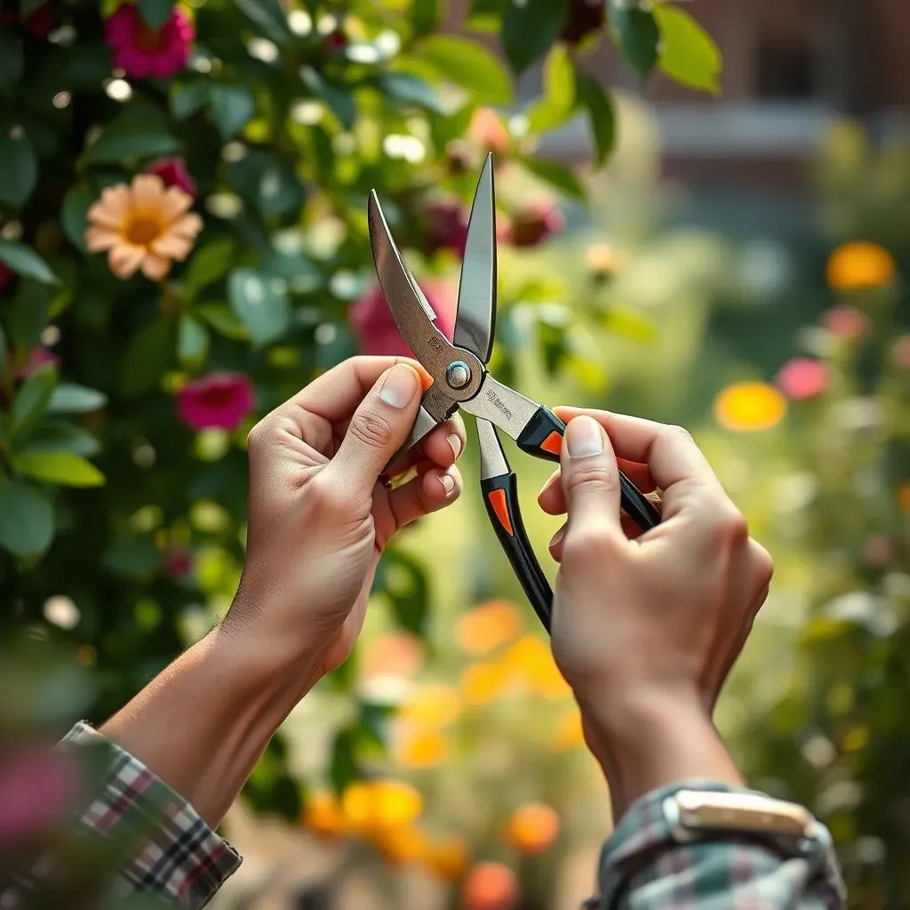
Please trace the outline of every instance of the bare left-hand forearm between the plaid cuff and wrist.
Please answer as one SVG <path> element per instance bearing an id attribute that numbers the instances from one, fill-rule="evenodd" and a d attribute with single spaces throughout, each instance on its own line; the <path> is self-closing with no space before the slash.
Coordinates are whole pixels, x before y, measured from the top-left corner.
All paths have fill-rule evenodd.
<path id="1" fill-rule="evenodd" d="M 100 728 L 220 824 L 268 741 L 315 682 L 307 666 L 268 665 L 216 630 Z"/>

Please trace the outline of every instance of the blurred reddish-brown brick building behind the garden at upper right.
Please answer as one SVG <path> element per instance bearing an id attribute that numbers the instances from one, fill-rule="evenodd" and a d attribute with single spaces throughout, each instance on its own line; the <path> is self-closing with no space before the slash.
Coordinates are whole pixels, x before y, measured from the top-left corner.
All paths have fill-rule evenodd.
<path id="1" fill-rule="evenodd" d="M 885 139 L 910 117 L 910 0 L 687 0 L 723 53 L 723 95 L 689 91 L 655 74 L 645 97 L 660 124 L 664 167 L 690 185 L 798 184 L 837 112 Z M 468 0 L 452 0 L 458 28 Z M 495 38 L 491 39 L 495 45 Z M 583 58 L 610 86 L 637 93 L 609 41 Z M 538 91 L 540 66 L 520 100 Z M 583 123 L 546 141 L 548 154 L 587 156 Z"/>

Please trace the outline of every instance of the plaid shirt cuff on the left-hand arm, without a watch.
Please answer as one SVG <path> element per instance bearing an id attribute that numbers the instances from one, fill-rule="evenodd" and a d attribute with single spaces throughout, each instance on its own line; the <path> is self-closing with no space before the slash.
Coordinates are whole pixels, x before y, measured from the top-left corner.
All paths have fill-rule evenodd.
<path id="1" fill-rule="evenodd" d="M 143 763 L 88 724 L 76 723 L 58 743 L 64 749 L 91 746 L 104 750 L 102 771 L 73 827 L 86 838 L 103 839 L 102 845 L 116 844 L 112 896 L 142 893 L 187 910 L 207 905 L 237 871 L 237 851 Z M 15 884 L 0 880 L 0 910 L 25 906 L 28 893 L 53 882 L 55 872 L 56 857 L 45 855 Z"/>

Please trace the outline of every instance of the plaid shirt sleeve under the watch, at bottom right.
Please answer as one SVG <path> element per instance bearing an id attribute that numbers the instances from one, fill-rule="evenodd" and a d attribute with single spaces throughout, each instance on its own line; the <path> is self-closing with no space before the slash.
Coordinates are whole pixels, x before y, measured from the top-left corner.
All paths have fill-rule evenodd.
<path id="1" fill-rule="evenodd" d="M 846 892 L 831 836 L 777 838 L 718 833 L 677 841 L 664 802 L 682 789 L 726 793 L 725 784 L 685 782 L 632 804 L 604 845 L 601 896 L 582 910 L 841 910 Z"/>

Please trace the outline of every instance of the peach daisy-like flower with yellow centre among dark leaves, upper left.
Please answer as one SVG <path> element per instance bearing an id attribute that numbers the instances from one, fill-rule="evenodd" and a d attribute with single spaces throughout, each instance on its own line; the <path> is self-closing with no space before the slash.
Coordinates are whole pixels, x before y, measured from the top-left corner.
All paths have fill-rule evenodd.
<path id="1" fill-rule="evenodd" d="M 193 197 L 179 187 L 165 187 L 157 174 L 137 174 L 132 184 L 106 187 L 88 209 L 86 247 L 107 250 L 107 263 L 117 278 L 136 269 L 161 281 L 174 260 L 183 261 L 202 229 L 202 219 L 188 212 Z"/>

